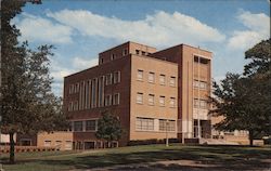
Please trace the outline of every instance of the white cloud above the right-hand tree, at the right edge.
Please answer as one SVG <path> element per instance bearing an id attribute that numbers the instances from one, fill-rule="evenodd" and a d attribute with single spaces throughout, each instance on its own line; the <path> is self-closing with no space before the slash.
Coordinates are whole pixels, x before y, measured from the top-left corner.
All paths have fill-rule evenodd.
<path id="1" fill-rule="evenodd" d="M 270 37 L 270 17 L 263 13 L 253 14 L 242 11 L 237 19 L 247 27 L 246 30 L 234 30 L 228 47 L 234 50 L 247 50 L 262 39 Z"/>

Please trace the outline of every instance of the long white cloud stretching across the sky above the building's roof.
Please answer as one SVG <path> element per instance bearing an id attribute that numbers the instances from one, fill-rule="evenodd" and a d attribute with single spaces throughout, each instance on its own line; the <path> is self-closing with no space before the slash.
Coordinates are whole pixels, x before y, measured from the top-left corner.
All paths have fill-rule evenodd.
<path id="1" fill-rule="evenodd" d="M 170 14 L 158 11 L 139 21 L 106 17 L 86 10 L 48 12 L 47 16 L 77 29 L 85 36 L 131 40 L 156 47 L 180 42 L 197 44 L 224 40 L 224 36 L 216 28 L 179 12 Z"/>

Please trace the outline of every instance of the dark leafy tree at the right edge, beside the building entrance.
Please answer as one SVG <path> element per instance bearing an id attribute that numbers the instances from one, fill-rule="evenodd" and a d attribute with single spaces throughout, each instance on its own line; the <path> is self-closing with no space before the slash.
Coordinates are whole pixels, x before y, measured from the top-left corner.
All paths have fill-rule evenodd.
<path id="1" fill-rule="evenodd" d="M 215 116 L 223 120 L 215 126 L 218 130 L 247 130 L 249 144 L 260 135 L 270 134 L 270 39 L 246 51 L 251 60 L 244 68 L 244 75 L 227 74 L 221 84 L 214 83 L 211 103 Z"/>

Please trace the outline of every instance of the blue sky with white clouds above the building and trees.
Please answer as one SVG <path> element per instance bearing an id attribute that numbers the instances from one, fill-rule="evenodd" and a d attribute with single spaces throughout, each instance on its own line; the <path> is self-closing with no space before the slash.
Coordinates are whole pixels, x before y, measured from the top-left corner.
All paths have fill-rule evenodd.
<path id="1" fill-rule="evenodd" d="M 270 37 L 268 0 L 43 0 L 12 23 L 31 47 L 54 44 L 53 91 L 91 67 L 98 54 L 128 40 L 158 50 L 186 43 L 214 52 L 212 77 L 242 73 L 245 50 Z"/>

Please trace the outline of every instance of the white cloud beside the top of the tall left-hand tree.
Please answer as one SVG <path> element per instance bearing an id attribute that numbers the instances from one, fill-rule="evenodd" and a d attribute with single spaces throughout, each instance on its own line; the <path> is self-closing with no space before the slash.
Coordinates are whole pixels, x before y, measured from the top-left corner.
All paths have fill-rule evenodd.
<path id="1" fill-rule="evenodd" d="M 14 19 L 16 27 L 21 30 L 21 39 L 28 41 L 40 41 L 50 43 L 72 42 L 72 28 L 56 24 L 50 19 L 23 13 L 22 19 Z"/>

